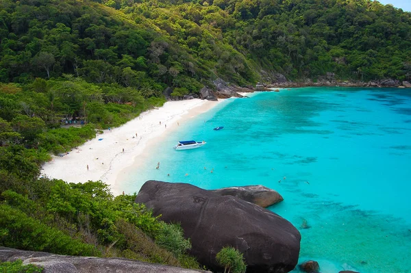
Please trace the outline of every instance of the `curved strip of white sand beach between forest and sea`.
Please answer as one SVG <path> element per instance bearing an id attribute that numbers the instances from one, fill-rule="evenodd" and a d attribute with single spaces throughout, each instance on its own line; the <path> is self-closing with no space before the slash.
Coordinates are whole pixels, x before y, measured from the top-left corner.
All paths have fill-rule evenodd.
<path id="1" fill-rule="evenodd" d="M 114 195 L 119 195 L 121 185 L 116 185 L 121 183 L 119 175 L 139 155 L 149 153 L 148 146 L 161 141 L 177 126 L 183 126 L 186 119 L 207 112 L 219 102 L 200 99 L 166 102 L 163 107 L 143 112 L 121 127 L 104 130 L 69 155 L 53 157 L 42 166 L 42 175 L 74 183 L 101 180 L 110 185 Z"/>

